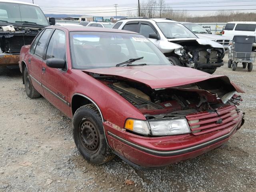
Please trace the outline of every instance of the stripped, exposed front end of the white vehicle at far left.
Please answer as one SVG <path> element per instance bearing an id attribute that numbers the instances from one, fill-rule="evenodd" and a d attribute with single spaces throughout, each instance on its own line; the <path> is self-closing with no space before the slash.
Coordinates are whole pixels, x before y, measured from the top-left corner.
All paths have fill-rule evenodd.
<path id="1" fill-rule="evenodd" d="M 18 65 L 21 47 L 31 44 L 41 29 L 2 26 L 0 28 L 0 66 Z"/>

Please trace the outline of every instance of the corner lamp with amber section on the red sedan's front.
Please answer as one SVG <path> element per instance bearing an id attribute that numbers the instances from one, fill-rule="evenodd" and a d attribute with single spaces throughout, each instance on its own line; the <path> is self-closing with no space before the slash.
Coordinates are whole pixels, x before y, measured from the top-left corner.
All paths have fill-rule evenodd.
<path id="1" fill-rule="evenodd" d="M 143 135 L 150 134 L 148 122 L 144 120 L 128 119 L 125 122 L 124 128 Z"/>

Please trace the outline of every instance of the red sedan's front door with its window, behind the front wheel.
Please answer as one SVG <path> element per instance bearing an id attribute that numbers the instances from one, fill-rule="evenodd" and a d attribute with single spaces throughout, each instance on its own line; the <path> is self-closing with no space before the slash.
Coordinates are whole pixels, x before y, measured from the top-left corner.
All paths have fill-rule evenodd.
<path id="1" fill-rule="evenodd" d="M 57 58 L 66 60 L 66 67 L 63 69 L 50 68 L 46 66 L 46 60 Z M 70 98 L 68 97 L 68 65 L 66 59 L 66 34 L 63 30 L 54 30 L 46 50 L 45 60 L 42 64 L 45 71 L 42 74 L 42 87 L 44 97 L 56 108 L 68 113 Z"/>

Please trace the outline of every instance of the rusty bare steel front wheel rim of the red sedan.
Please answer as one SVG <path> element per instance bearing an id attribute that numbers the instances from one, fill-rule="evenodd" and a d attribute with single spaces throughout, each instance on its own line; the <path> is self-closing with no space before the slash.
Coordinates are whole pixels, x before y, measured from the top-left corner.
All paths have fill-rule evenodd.
<path id="1" fill-rule="evenodd" d="M 79 130 L 79 138 L 86 151 L 90 154 L 96 153 L 100 138 L 94 123 L 88 119 L 84 119 L 80 122 Z"/>

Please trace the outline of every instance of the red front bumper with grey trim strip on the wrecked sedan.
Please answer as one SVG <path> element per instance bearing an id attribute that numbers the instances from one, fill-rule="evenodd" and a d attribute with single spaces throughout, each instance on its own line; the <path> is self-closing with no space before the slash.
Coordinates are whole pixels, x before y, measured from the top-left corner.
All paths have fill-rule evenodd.
<path id="1" fill-rule="evenodd" d="M 104 122 L 109 146 L 118 156 L 138 167 L 160 167 L 195 158 L 222 144 L 242 126 L 240 120 L 225 129 L 200 136 L 192 134 L 144 137 L 126 132 L 110 122 Z"/>

